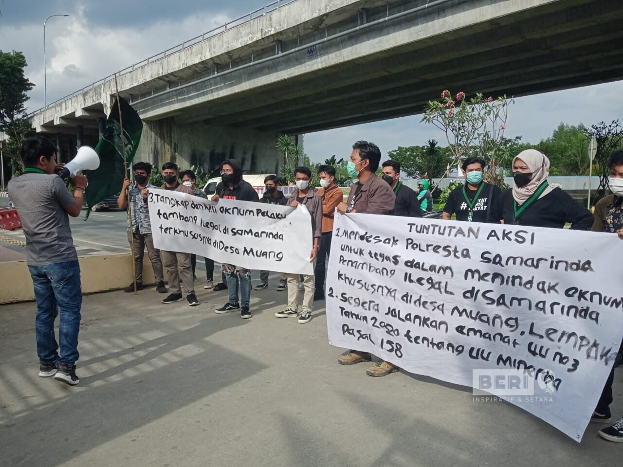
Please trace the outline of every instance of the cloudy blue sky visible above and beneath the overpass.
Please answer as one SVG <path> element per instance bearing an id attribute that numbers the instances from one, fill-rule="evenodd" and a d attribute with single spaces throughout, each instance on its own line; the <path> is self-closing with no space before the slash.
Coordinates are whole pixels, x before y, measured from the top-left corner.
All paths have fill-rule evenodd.
<path id="1" fill-rule="evenodd" d="M 303 0 L 300 0 L 303 1 Z M 306 0 L 320 1 L 320 0 Z M 225 21 L 269 3 L 259 0 L 0 0 L 0 49 L 21 50 L 27 75 L 37 86 L 31 110 L 43 105 L 43 21 L 47 23 L 47 96 L 49 101 L 89 85 L 116 70 L 209 31 Z M 459 90 L 456 90 L 459 91 Z M 623 81 L 518 98 L 506 122 L 509 138 L 538 143 L 564 121 L 590 126 L 623 116 Z M 435 98 L 432 96 L 431 98 Z M 305 135 L 312 161 L 332 154 L 345 157 L 351 144 L 368 139 L 384 154 L 397 146 L 425 144 L 445 136 L 432 125 L 408 116 Z"/>

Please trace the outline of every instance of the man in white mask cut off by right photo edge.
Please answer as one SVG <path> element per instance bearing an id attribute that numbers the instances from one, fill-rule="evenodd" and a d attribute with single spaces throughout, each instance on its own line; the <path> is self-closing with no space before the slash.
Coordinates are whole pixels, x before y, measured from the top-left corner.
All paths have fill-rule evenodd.
<path id="1" fill-rule="evenodd" d="M 612 194 L 597 201 L 595 205 L 595 220 L 591 230 L 593 232 L 617 234 L 619 238 L 623 239 L 623 149 L 610 154 L 608 167 L 610 168 L 609 187 Z M 614 361 L 610 375 L 606 380 L 606 385 L 604 385 L 604 390 L 592 414 L 591 422 L 610 423 L 612 421 L 610 404 L 612 403 L 614 369 L 622 361 L 623 342 L 621 342 L 617 359 Z M 602 428 L 597 433 L 605 440 L 623 443 L 623 418 L 610 427 Z"/>

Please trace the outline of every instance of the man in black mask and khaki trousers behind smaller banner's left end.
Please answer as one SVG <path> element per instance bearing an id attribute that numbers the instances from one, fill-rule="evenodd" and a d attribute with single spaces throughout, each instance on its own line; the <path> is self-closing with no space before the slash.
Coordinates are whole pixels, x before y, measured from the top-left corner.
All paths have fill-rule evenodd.
<path id="1" fill-rule="evenodd" d="M 184 186 L 179 182 L 178 166 L 172 162 L 168 162 L 162 166 L 162 176 L 164 178 L 164 189 L 169 191 L 179 191 L 194 195 L 191 187 Z M 147 194 L 149 189 L 143 189 L 143 202 L 147 208 Z M 162 303 L 174 303 L 183 300 L 181 285 L 186 292 L 186 300 L 189 306 L 197 306 L 199 301 L 194 294 L 193 280 L 193 264 L 191 263 L 190 253 L 165 252 L 160 250 L 164 270 L 166 270 L 166 278 L 169 281 L 169 296 Z"/>

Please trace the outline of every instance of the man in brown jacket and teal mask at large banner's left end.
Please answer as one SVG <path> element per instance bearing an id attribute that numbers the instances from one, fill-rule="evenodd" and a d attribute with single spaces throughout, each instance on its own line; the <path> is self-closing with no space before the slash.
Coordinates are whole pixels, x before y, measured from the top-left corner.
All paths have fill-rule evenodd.
<path id="1" fill-rule="evenodd" d="M 389 214 L 396 204 L 396 195 L 391 186 L 382 178 L 376 176 L 376 170 L 381 162 L 381 150 L 374 143 L 357 141 L 353 144 L 348 163 L 348 174 L 357 177 L 356 184 L 351 186 L 348 200 L 338 204 L 338 210 L 347 214 Z M 338 363 L 341 365 L 354 365 L 359 362 L 369 362 L 372 356 L 368 352 L 351 350 L 341 356 Z M 369 367 L 366 374 L 370 376 L 386 376 L 398 367 L 389 362 L 379 362 Z"/>

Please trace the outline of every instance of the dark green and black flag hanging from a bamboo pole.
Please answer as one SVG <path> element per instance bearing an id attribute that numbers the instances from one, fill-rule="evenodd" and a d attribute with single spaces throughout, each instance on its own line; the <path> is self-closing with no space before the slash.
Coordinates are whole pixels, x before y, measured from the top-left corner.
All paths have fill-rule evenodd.
<path id="1" fill-rule="evenodd" d="M 88 171 L 88 187 L 85 190 L 88 211 L 85 220 L 91 212 L 91 208 L 98 202 L 113 196 L 121 189 L 123 179 L 127 176 L 125 164 L 130 165 L 136 148 L 141 140 L 143 122 L 130 104 L 119 98 L 121 105 L 121 121 L 123 121 L 123 143 L 125 144 L 125 158 L 121 145 L 121 125 L 119 123 L 119 106 L 117 99 L 110 110 L 106 120 L 106 130 L 95 152 L 100 156 L 100 167 Z"/>

